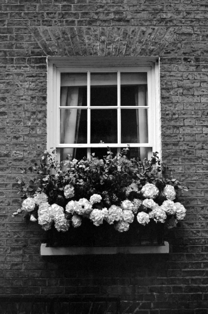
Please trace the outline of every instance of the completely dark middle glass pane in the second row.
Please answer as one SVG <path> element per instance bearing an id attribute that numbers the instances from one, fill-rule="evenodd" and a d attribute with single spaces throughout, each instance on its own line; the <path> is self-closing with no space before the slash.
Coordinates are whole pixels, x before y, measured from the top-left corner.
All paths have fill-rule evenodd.
<path id="1" fill-rule="evenodd" d="M 117 143 L 117 110 L 90 110 L 90 143 Z"/>

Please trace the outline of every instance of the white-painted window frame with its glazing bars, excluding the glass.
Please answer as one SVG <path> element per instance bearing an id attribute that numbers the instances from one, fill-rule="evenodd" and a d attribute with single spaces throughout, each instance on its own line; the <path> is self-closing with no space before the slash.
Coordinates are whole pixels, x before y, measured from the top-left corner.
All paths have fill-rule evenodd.
<path id="1" fill-rule="evenodd" d="M 87 110 L 90 122 L 90 71 L 117 72 L 118 74 L 118 105 L 99 107 L 93 109 L 128 108 L 135 106 L 120 106 L 120 72 L 147 72 L 148 86 L 148 143 L 131 143 L 130 147 L 149 147 L 148 159 L 152 151 L 157 151 L 161 157 L 161 114 L 160 114 L 160 84 L 159 84 L 159 58 L 157 57 L 48 57 L 47 77 L 47 149 L 51 148 L 87 148 L 87 157 L 90 157 L 90 148 L 93 147 L 124 147 L 129 143 L 121 143 L 120 110 L 118 110 L 118 144 L 90 143 L 90 123 L 88 123 L 88 138 L 86 144 L 61 144 L 60 143 L 60 73 L 62 72 L 87 72 Z M 62 109 L 68 107 L 61 107 Z M 70 107 L 73 108 L 73 107 Z M 138 107 L 137 107 L 138 108 Z M 58 152 L 58 150 L 57 150 Z M 59 156 L 57 156 L 59 157 Z"/>

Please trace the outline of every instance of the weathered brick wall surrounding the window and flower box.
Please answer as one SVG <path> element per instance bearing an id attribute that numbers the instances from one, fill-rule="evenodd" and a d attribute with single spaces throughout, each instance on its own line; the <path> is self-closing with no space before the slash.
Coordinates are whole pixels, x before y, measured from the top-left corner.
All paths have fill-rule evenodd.
<path id="1" fill-rule="evenodd" d="M 0 0 L 0 17 L 0 294 L 120 295 L 122 313 L 208 313 L 208 5 Z M 41 257 L 41 228 L 11 219 L 19 168 L 46 148 L 47 55 L 160 57 L 162 157 L 190 188 L 168 256 Z"/>

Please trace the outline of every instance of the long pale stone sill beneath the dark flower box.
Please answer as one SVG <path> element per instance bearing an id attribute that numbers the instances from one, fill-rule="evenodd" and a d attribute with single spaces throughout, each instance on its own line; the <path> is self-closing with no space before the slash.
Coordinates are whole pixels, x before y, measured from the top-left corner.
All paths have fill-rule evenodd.
<path id="1" fill-rule="evenodd" d="M 41 255 L 90 255 L 90 254 L 164 254 L 169 253 L 169 243 L 162 246 L 106 246 L 106 247 L 47 247 L 41 244 Z"/>

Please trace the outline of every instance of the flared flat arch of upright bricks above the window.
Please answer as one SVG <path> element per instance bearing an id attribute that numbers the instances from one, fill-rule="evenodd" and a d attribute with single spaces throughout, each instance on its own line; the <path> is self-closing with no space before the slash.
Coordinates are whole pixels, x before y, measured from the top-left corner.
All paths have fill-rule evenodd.
<path id="1" fill-rule="evenodd" d="M 47 56 L 163 56 L 177 44 L 178 27 L 30 27 Z M 166 52 L 167 51 L 167 52 Z"/>

